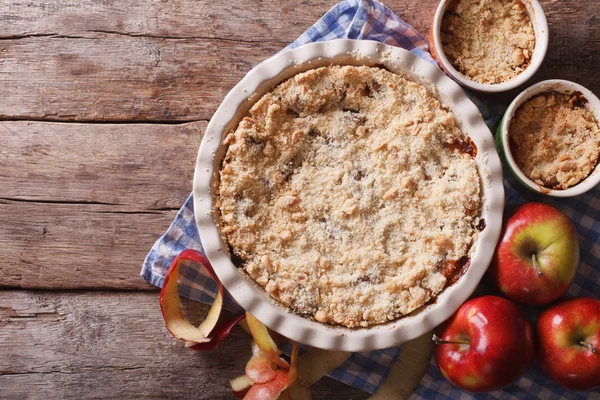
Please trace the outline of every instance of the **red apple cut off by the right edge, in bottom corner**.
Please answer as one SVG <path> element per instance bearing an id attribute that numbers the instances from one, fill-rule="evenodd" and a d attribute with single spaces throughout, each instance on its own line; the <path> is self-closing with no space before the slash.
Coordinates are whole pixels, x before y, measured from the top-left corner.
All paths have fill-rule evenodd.
<path id="1" fill-rule="evenodd" d="M 600 300 L 579 297 L 545 310 L 537 321 L 538 360 L 570 390 L 600 387 Z"/>

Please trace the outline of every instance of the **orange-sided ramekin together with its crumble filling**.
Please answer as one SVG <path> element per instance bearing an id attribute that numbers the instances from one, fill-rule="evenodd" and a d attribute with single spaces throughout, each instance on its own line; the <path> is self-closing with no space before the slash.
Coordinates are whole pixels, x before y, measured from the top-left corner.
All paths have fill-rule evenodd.
<path id="1" fill-rule="evenodd" d="M 504 92 L 525 83 L 548 49 L 537 0 L 442 0 L 429 32 L 433 58 L 461 85 Z"/>

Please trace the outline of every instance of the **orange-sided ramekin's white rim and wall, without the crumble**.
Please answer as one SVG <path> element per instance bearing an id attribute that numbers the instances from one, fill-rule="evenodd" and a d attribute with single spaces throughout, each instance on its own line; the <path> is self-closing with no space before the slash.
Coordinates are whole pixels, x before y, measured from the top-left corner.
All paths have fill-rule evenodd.
<path id="1" fill-rule="evenodd" d="M 525 82 L 527 82 L 540 68 L 546 51 L 548 50 L 548 21 L 546 21 L 546 15 L 542 6 L 537 0 L 522 0 L 522 3 L 527 9 L 527 14 L 533 23 L 533 29 L 535 31 L 535 49 L 531 56 L 531 64 L 521 72 L 515 78 L 498 84 L 484 84 L 475 82 L 465 75 L 461 74 L 452 66 L 446 54 L 444 54 L 444 48 L 442 46 L 442 39 L 440 37 L 440 29 L 442 27 L 442 18 L 448 6 L 453 0 L 442 0 L 438 5 L 438 8 L 433 17 L 433 24 L 429 31 L 429 50 L 433 58 L 438 62 L 438 65 L 443 69 L 452 79 L 457 81 L 462 86 L 468 87 L 473 90 L 480 92 L 505 92 L 507 90 L 514 89 Z"/>

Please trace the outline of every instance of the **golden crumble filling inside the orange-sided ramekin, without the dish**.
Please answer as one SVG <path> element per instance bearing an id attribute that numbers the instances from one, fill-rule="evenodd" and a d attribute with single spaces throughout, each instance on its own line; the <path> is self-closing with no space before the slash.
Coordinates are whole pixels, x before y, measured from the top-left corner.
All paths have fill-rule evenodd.
<path id="1" fill-rule="evenodd" d="M 520 0 L 456 0 L 442 19 L 441 40 L 450 63 L 469 79 L 506 82 L 533 55 L 533 24 Z"/>

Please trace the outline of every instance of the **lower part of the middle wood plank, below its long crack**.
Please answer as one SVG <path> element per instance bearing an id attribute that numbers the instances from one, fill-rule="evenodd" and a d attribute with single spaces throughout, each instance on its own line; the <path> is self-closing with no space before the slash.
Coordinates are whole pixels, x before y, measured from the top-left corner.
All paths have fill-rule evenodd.
<path id="1" fill-rule="evenodd" d="M 140 268 L 175 214 L 0 200 L 0 287 L 153 290 Z"/>

